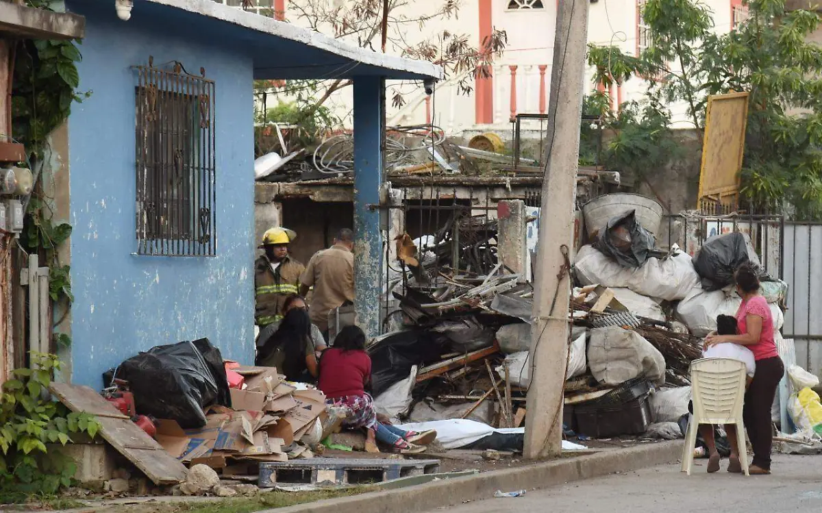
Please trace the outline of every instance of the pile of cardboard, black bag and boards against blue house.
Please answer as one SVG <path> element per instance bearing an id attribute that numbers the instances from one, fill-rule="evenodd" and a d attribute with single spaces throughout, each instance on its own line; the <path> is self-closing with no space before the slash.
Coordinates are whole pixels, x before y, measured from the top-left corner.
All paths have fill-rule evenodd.
<path id="1" fill-rule="evenodd" d="M 94 414 L 100 435 L 158 486 L 203 465 L 253 480 L 259 465 L 312 458 L 342 418 L 311 386 L 274 367 L 224 362 L 207 339 L 158 346 L 121 363 L 98 394 L 54 383 L 69 409 Z"/>

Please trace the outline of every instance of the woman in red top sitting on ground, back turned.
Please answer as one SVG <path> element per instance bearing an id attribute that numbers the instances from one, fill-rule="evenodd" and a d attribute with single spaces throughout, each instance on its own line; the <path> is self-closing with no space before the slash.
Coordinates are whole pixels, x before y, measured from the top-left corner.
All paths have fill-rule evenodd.
<path id="1" fill-rule="evenodd" d="M 326 404 L 346 413 L 345 428 L 365 428 L 365 448 L 379 452 L 376 440 L 404 453 L 423 452 L 423 444 L 436 438 L 436 431 L 413 432 L 395 428 L 376 420 L 371 395 L 365 391 L 371 385 L 371 358 L 365 352 L 365 334 L 357 326 L 345 326 L 320 359 L 320 382 L 326 394 Z M 420 445 L 417 445 L 420 444 Z"/>

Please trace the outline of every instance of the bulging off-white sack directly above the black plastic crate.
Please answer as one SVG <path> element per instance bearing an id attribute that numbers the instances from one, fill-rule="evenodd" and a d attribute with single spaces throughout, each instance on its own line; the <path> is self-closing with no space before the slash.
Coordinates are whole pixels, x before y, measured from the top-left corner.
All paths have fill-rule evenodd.
<path id="1" fill-rule="evenodd" d="M 593 377 L 607 386 L 639 376 L 658 385 L 665 382 L 663 354 L 636 331 L 619 326 L 591 330 L 588 367 Z"/>

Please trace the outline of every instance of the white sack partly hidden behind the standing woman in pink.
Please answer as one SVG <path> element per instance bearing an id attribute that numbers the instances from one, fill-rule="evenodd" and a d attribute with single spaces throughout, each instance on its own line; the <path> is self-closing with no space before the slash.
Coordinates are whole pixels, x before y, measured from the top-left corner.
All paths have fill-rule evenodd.
<path id="1" fill-rule="evenodd" d="M 706 292 L 697 287 L 677 305 L 677 317 L 688 326 L 691 334 L 699 337 L 717 329 L 717 317 L 728 315 L 737 317 L 742 300 L 736 293 L 727 296 L 723 290 Z M 774 331 L 782 329 L 785 315 L 776 303 L 769 303 L 774 317 Z"/>

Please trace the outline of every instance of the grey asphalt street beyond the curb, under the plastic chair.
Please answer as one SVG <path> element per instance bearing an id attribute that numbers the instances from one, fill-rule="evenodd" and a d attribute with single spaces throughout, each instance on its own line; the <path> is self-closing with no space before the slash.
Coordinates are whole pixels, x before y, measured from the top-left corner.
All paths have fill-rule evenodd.
<path id="1" fill-rule="evenodd" d="M 448 513 L 772 513 L 822 511 L 822 455 L 776 455 L 769 476 L 707 474 L 707 460 L 695 460 L 690 477 L 679 464 L 662 465 L 559 487 L 527 491 L 524 497 L 492 498 L 435 511 Z M 510 490 L 503 490 L 510 492 Z M 434 513 L 432 511 L 431 513 Z"/>

